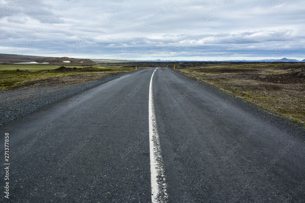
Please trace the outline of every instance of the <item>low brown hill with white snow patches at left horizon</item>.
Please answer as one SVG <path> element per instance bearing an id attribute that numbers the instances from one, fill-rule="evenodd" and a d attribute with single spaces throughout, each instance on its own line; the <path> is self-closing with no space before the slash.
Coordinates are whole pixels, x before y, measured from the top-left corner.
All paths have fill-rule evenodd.
<path id="1" fill-rule="evenodd" d="M 63 61 L 70 61 L 70 63 L 87 63 L 93 64 L 94 61 L 90 59 L 75 59 L 69 57 L 45 57 L 45 56 L 28 56 L 17 54 L 0 54 L 0 63 L 63 63 Z"/>

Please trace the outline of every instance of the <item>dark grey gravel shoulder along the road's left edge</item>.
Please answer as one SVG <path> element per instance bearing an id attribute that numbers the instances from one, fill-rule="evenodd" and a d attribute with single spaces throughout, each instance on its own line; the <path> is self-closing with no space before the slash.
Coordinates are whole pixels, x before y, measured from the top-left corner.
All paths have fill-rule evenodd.
<path id="1" fill-rule="evenodd" d="M 86 89 L 93 88 L 129 73 L 130 72 L 110 75 L 104 78 L 71 85 L 39 87 L 12 92 L 1 92 L 0 125 L 34 112 L 48 104 L 54 103 L 63 98 L 80 93 Z"/>

